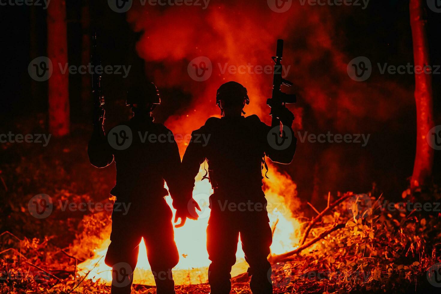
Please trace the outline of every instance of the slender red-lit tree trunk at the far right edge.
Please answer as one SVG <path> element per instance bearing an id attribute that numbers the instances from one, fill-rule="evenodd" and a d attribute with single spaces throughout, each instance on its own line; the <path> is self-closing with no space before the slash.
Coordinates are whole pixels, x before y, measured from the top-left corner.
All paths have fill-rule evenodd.
<path id="1" fill-rule="evenodd" d="M 410 0 L 410 20 L 415 67 L 424 68 L 430 65 L 429 45 L 427 41 L 427 16 L 424 11 L 426 1 Z M 434 149 L 430 147 L 426 136 L 434 127 L 433 100 L 432 100 L 432 75 L 417 74 L 415 71 L 415 103 L 416 103 L 416 154 L 415 164 L 411 178 L 411 187 L 417 188 L 426 185 L 432 175 Z"/>

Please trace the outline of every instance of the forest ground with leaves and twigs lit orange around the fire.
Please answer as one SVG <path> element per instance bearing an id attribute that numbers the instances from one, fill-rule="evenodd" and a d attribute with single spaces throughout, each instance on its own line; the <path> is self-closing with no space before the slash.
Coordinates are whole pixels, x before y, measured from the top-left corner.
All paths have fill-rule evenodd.
<path id="1" fill-rule="evenodd" d="M 58 209 L 39 220 L 27 206 L 41 193 L 54 201 L 111 203 L 108 191 L 115 182 L 114 169 L 92 167 L 86 155 L 88 128 L 73 129 L 71 136 L 51 138 L 47 146 L 0 145 L 1 293 L 110 293 L 100 281 L 74 275 L 75 264 L 93 256 L 109 215 Z M 22 132 L 34 134 L 42 128 L 22 127 Z M 404 193 L 404 201 L 439 202 L 441 198 L 436 185 L 416 192 Z M 392 212 L 385 208 L 388 195 L 366 194 L 369 213 L 350 213 L 354 211 L 348 207 L 351 202 L 343 201 L 317 221 L 306 242 L 337 224 L 342 228 L 273 264 L 275 293 L 430 293 L 441 286 L 437 283 L 441 262 L 438 212 Z M 331 195 L 331 203 L 344 195 Z M 235 278 L 232 288 L 232 293 L 250 293 L 246 276 Z M 209 287 L 198 284 L 176 290 L 208 293 Z M 154 287 L 142 285 L 135 285 L 134 291 L 155 293 Z"/>

